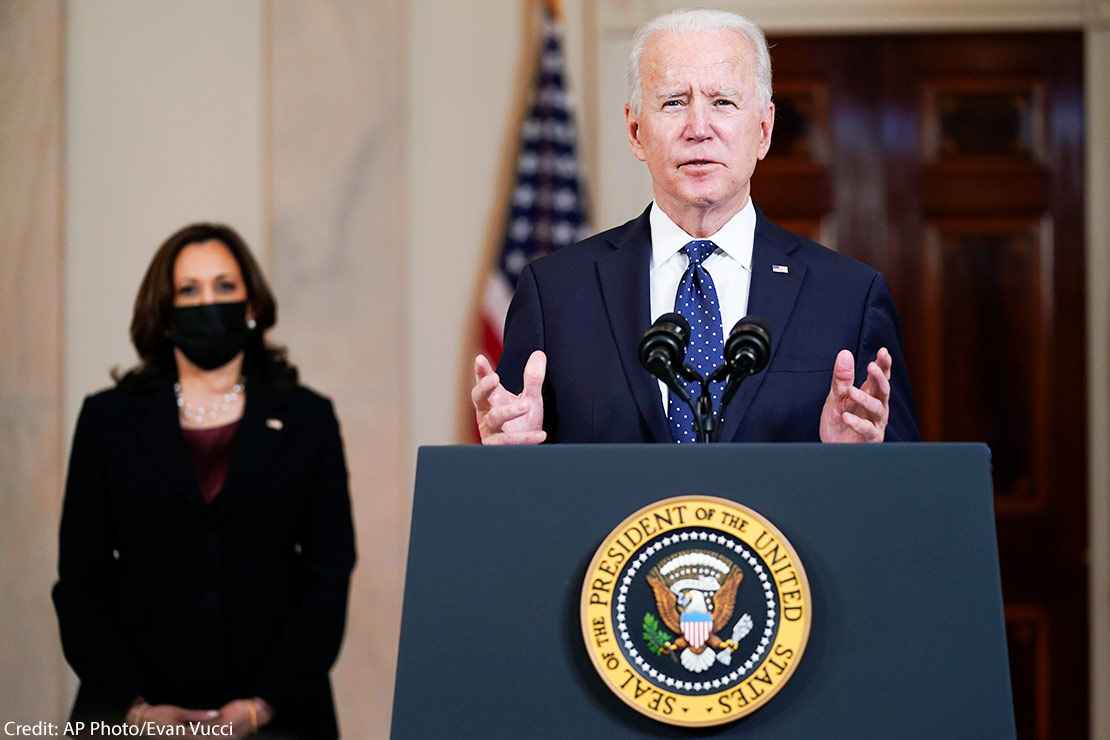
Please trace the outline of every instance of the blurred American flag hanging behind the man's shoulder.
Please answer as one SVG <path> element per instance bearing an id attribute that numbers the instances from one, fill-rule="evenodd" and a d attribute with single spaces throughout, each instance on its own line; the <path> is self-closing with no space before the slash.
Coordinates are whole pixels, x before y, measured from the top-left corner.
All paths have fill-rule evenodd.
<path id="1" fill-rule="evenodd" d="M 494 366 L 521 271 L 536 257 L 588 234 L 565 68 L 562 27 L 548 7 L 528 111 L 521 126 L 505 234 L 482 294 L 482 353 Z"/>

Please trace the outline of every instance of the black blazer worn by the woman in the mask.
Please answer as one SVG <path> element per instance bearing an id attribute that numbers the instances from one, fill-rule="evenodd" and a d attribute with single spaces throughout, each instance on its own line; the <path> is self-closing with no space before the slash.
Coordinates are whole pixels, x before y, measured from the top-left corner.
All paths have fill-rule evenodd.
<path id="1" fill-rule="evenodd" d="M 85 399 L 53 589 L 74 719 L 261 697 L 266 734 L 337 737 L 329 671 L 355 548 L 334 409 L 249 385 L 234 445 L 205 505 L 169 383 Z"/>

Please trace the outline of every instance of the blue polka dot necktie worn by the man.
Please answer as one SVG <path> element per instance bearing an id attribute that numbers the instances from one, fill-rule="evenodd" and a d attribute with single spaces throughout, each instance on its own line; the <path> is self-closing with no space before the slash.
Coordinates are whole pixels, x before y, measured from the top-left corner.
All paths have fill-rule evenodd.
<path id="1" fill-rule="evenodd" d="M 725 359 L 725 335 L 720 324 L 717 288 L 713 284 L 709 271 L 702 266 L 705 259 L 716 249 L 716 244 L 704 239 L 693 241 L 683 247 L 683 253 L 689 257 L 689 266 L 683 273 L 678 292 L 675 294 L 675 311 L 690 323 L 686 364 L 703 376 L 715 371 Z M 724 381 L 709 385 L 714 413 L 720 408 L 720 393 L 724 386 Z M 688 382 L 686 391 L 696 405 L 702 395 L 702 386 L 696 382 Z M 686 404 L 675 394 L 670 394 L 668 406 L 667 416 L 670 418 L 670 436 L 674 440 L 679 444 L 697 442 L 694 415 Z"/>

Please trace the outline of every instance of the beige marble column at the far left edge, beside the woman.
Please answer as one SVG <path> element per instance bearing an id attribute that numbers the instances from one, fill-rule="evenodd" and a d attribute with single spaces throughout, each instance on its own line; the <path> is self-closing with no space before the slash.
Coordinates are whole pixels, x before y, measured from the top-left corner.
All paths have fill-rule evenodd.
<path id="1" fill-rule="evenodd" d="M 62 0 L 0 2 L 0 720 L 57 721 L 62 480 Z M 0 729 L 2 731 L 2 729 Z"/>

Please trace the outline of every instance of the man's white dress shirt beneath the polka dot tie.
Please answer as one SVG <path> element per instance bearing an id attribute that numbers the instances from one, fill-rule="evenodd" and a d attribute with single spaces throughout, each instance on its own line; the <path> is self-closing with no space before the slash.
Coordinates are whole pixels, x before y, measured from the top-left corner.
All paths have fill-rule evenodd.
<path id="1" fill-rule="evenodd" d="M 652 202 L 648 216 L 652 226 L 652 270 L 648 283 L 652 291 L 652 322 L 675 310 L 678 283 L 689 266 L 689 259 L 682 253 L 694 241 L 678 224 L 670 220 L 657 203 Z M 751 246 L 756 235 L 756 210 L 751 199 L 740 211 L 712 236 L 705 236 L 717 250 L 702 263 L 717 288 L 720 303 L 722 337 L 731 331 L 748 311 L 748 288 L 751 285 Z M 668 410 L 667 386 L 659 382 L 663 410 Z"/>

